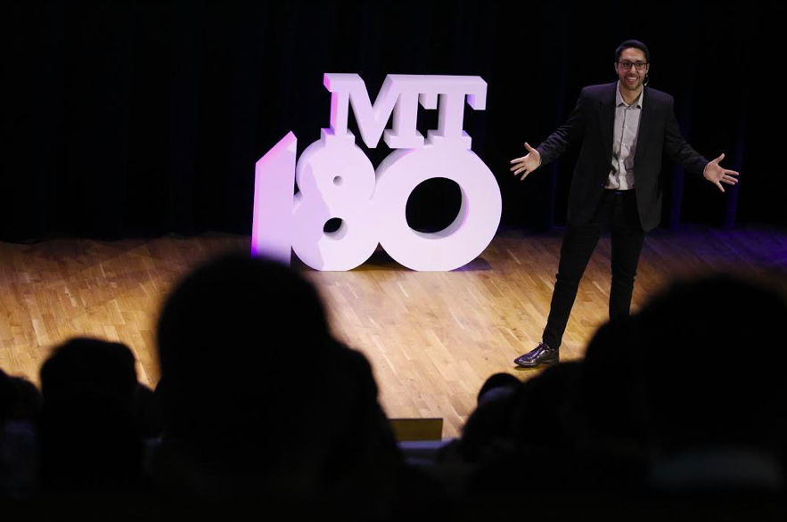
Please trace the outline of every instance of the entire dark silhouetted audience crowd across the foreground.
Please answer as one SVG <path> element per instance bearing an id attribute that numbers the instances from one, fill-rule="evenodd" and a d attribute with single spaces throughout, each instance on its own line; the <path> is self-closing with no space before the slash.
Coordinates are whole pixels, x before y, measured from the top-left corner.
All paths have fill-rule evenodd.
<path id="1" fill-rule="evenodd" d="M 163 303 L 155 392 L 128 347 L 94 338 L 53 350 L 40 394 L 0 371 L 0 498 L 327 501 L 392 517 L 424 499 L 470 515 L 457 506 L 501 495 L 779 495 L 785 322 L 775 285 L 675 281 L 603 324 L 583 360 L 490 376 L 462 436 L 414 465 L 315 286 L 229 254 Z"/>

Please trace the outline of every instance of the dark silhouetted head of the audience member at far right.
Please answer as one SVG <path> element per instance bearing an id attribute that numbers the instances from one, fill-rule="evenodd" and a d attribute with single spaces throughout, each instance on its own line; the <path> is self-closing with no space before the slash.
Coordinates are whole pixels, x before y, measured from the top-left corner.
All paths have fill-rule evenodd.
<path id="1" fill-rule="evenodd" d="M 775 290 L 729 274 L 677 281 L 644 307 L 640 347 L 660 444 L 778 444 L 784 436 L 787 322 Z"/>

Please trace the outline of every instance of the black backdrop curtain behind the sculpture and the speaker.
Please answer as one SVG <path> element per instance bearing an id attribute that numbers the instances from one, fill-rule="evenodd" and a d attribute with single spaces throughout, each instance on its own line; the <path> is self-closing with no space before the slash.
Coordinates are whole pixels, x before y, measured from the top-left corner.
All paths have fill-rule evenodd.
<path id="1" fill-rule="evenodd" d="M 614 81 L 630 37 L 650 46 L 650 85 L 675 96 L 693 147 L 742 171 L 722 195 L 666 161 L 662 224 L 787 225 L 783 8 L 703 5 L 4 3 L 0 237 L 250 233 L 254 163 L 288 131 L 302 151 L 328 126 L 329 71 L 357 72 L 372 98 L 389 73 L 484 77 L 487 110 L 465 111 L 473 150 L 497 176 L 503 224 L 545 230 L 565 221 L 577 151 L 524 183 L 508 162 L 582 86 Z M 421 110 L 424 134 L 436 122 Z M 375 165 L 388 152 L 368 151 Z M 439 228 L 458 191 L 425 185 L 408 216 Z"/>

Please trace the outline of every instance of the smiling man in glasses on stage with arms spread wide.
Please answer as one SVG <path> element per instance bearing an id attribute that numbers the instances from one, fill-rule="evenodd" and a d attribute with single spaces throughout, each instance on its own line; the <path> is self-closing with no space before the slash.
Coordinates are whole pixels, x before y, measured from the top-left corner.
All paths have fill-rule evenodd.
<path id="1" fill-rule="evenodd" d="M 661 158 L 703 173 L 724 192 L 738 175 L 703 158 L 685 142 L 675 118 L 672 96 L 650 87 L 650 52 L 638 40 L 615 50 L 618 81 L 587 86 L 564 125 L 536 149 L 512 159 L 514 175 L 527 175 L 557 159 L 571 145 L 581 145 L 569 192 L 569 215 L 552 305 L 542 342 L 514 360 L 523 367 L 560 360 L 563 332 L 579 281 L 605 228 L 611 229 L 612 284 L 610 319 L 627 316 L 644 233 L 661 219 Z"/>

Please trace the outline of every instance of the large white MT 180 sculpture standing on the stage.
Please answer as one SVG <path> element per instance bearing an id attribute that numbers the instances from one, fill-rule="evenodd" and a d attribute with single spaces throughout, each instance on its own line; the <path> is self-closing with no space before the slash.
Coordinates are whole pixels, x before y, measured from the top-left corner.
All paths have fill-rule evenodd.
<path id="1" fill-rule="evenodd" d="M 463 118 L 465 100 L 475 110 L 486 108 L 487 83 L 481 77 L 392 74 L 374 105 L 357 74 L 325 74 L 324 86 L 331 92 L 331 128 L 297 165 L 292 133 L 257 162 L 252 254 L 289 263 L 293 249 L 316 270 L 355 268 L 378 242 L 413 270 L 453 270 L 478 257 L 495 236 L 502 200 L 495 175 L 471 151 Z M 418 104 L 433 110 L 438 99 L 438 128 L 424 140 L 415 126 Z M 376 171 L 348 131 L 350 104 L 367 147 L 382 137 L 397 149 Z M 391 113 L 392 128 L 385 130 Z M 418 184 L 435 177 L 459 185 L 459 213 L 440 232 L 414 231 L 407 200 Z M 293 182 L 299 188 L 294 195 Z M 341 219 L 339 229 L 324 232 L 332 218 Z"/>

